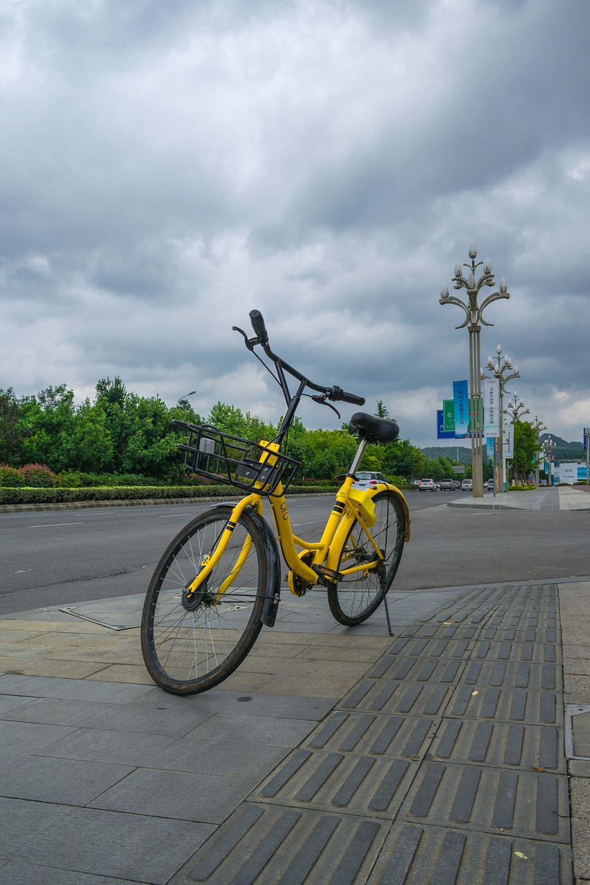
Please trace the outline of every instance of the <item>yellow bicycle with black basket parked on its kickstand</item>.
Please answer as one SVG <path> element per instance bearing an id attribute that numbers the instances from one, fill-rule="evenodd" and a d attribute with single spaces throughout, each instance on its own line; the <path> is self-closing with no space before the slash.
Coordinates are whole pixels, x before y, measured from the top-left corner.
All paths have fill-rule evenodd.
<path id="1" fill-rule="evenodd" d="M 310 543 L 294 535 L 284 493 L 300 463 L 283 454 L 281 443 L 301 397 L 321 404 L 363 405 L 365 400 L 309 381 L 270 349 L 260 312 L 251 311 L 250 319 L 253 338 L 233 328 L 283 390 L 286 411 L 276 438 L 251 443 L 215 427 L 173 422 L 188 432 L 188 442 L 179 446 L 188 470 L 247 493 L 237 504 L 214 504 L 185 526 L 151 578 L 141 626 L 145 666 L 162 689 L 178 695 L 218 685 L 242 663 L 262 626 L 274 626 L 282 589 L 276 537 L 291 593 L 303 596 L 321 586 L 330 612 L 348 627 L 361 624 L 384 602 L 392 633 L 386 594 L 409 540 L 408 504 L 389 483 L 361 491 L 353 489 L 353 481 L 368 443 L 391 443 L 399 427 L 365 412 L 353 414 L 348 429 L 358 435 L 359 448 L 322 537 Z M 267 361 L 254 351 L 259 345 Z M 293 393 L 288 376 L 297 383 Z M 307 389 L 314 393 L 306 394 Z M 276 537 L 263 518 L 263 499 L 270 504 Z"/>

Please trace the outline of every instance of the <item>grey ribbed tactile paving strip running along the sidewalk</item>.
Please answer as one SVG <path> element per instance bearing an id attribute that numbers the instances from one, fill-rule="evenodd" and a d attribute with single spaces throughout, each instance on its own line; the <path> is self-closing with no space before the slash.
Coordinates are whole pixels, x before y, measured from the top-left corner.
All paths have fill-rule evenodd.
<path id="1" fill-rule="evenodd" d="M 571 885 L 556 602 L 415 621 L 175 882 Z"/>

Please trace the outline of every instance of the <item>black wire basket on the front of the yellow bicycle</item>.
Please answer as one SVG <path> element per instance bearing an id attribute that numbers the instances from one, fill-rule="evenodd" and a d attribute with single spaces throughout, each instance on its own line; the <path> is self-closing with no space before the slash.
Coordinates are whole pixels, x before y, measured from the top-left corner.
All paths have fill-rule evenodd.
<path id="1" fill-rule="evenodd" d="M 258 443 L 225 434 L 217 427 L 178 419 L 172 423 L 189 433 L 188 443 L 178 443 L 184 452 L 186 469 L 224 485 L 271 496 L 279 483 L 285 491 L 301 466 L 300 461 L 287 458 L 282 452 L 269 452 Z"/>

